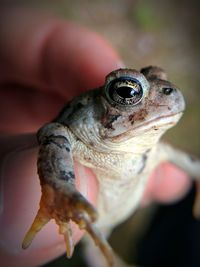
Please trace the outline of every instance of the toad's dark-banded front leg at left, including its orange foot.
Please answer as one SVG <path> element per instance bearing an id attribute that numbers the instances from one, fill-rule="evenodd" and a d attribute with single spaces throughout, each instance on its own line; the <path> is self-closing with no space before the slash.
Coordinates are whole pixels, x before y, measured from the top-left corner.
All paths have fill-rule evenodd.
<path id="1" fill-rule="evenodd" d="M 95 208 L 75 188 L 75 175 L 68 131 L 59 123 L 50 123 L 38 132 L 40 145 L 38 174 L 42 196 L 38 213 L 22 243 L 27 248 L 35 235 L 50 220 L 55 219 L 59 232 L 63 234 L 67 256 L 74 249 L 70 220 L 92 236 L 112 266 L 112 253 L 106 240 L 94 227 L 97 219 Z"/>

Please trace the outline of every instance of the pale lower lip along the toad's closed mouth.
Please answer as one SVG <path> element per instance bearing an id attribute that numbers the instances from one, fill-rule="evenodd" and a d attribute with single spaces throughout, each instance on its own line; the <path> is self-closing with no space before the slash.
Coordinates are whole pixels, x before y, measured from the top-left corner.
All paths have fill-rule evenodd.
<path id="1" fill-rule="evenodd" d="M 159 116 L 149 120 L 147 122 L 141 122 L 141 124 L 136 125 L 135 127 L 131 128 L 130 130 L 118 134 L 116 136 L 111 137 L 113 142 L 120 142 L 128 140 L 134 136 L 141 135 L 141 133 L 149 132 L 150 130 L 161 132 L 175 126 L 177 122 L 180 120 L 181 116 L 183 115 L 183 111 L 172 115 L 166 116 Z"/>

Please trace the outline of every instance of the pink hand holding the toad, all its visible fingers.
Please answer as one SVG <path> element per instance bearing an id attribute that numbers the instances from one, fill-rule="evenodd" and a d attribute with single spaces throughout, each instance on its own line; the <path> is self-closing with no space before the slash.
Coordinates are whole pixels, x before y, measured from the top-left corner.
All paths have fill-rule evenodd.
<path id="1" fill-rule="evenodd" d="M 105 75 L 123 63 L 106 41 L 83 27 L 31 9 L 1 13 L 0 262 L 38 266 L 64 253 L 65 246 L 50 222 L 29 249 L 21 249 L 40 199 L 36 139 L 25 133 L 36 132 L 74 96 L 102 85 Z M 78 163 L 75 173 L 77 188 L 95 205 L 93 173 Z M 151 175 L 141 205 L 175 201 L 189 188 L 185 173 L 162 164 Z M 73 229 L 77 243 L 83 233 L 75 225 Z"/>

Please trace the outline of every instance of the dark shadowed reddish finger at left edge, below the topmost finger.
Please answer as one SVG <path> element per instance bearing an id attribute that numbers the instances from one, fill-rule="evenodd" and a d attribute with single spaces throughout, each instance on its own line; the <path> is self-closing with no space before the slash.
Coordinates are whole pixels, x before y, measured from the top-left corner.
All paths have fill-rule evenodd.
<path id="1" fill-rule="evenodd" d="M 0 132 L 36 132 L 51 121 L 64 105 L 56 93 L 45 93 L 27 86 L 0 86 Z"/>

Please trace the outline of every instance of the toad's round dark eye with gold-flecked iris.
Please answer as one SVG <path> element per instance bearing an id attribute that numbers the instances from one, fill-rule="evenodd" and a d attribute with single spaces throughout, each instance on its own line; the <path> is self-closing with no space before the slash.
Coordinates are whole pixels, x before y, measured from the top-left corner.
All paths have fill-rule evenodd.
<path id="1" fill-rule="evenodd" d="M 106 87 L 108 98 L 121 105 L 136 105 L 143 97 L 143 89 L 138 80 L 120 77 L 111 81 Z"/>

